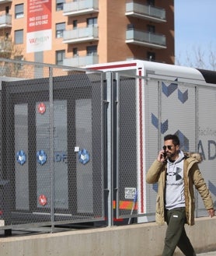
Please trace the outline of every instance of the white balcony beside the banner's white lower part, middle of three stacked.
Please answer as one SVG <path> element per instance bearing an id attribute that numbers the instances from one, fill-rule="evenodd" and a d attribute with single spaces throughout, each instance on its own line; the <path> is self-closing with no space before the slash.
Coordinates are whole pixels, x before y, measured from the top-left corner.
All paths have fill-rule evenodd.
<path id="1" fill-rule="evenodd" d="M 65 44 L 83 43 L 94 40 L 99 40 L 97 26 L 65 30 L 63 33 L 63 43 Z"/>

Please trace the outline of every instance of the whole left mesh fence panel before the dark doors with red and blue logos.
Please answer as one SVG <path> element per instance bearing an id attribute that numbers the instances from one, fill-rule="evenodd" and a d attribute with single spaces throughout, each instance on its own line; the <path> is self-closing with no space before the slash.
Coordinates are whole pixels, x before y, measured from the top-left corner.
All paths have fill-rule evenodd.
<path id="1" fill-rule="evenodd" d="M 17 61 L 0 64 L 9 72 L 1 92 L 0 229 L 104 219 L 103 74 L 20 62 L 25 77 L 11 79 Z M 28 73 L 36 68 L 40 78 Z"/>

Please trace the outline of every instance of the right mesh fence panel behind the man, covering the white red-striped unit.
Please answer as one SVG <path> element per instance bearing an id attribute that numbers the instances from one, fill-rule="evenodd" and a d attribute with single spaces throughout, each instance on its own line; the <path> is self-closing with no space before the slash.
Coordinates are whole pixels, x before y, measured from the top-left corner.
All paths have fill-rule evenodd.
<path id="1" fill-rule="evenodd" d="M 215 87 L 179 82 L 175 77 L 117 77 L 117 218 L 155 220 L 158 184 L 147 184 L 145 176 L 167 134 L 179 136 L 184 152 L 199 152 L 203 157 L 199 167 L 215 205 Z M 205 216 L 203 200 L 194 191 L 196 214 Z"/>

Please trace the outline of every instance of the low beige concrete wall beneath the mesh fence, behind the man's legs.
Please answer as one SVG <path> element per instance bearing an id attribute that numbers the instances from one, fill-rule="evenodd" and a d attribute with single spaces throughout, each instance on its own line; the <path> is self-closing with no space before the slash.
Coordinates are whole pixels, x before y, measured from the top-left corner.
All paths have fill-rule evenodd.
<path id="1" fill-rule="evenodd" d="M 4 237 L 1 256 L 159 256 L 166 226 L 141 223 L 91 230 Z M 216 217 L 196 219 L 186 226 L 197 253 L 216 250 Z M 176 249 L 175 255 L 183 255 Z"/>

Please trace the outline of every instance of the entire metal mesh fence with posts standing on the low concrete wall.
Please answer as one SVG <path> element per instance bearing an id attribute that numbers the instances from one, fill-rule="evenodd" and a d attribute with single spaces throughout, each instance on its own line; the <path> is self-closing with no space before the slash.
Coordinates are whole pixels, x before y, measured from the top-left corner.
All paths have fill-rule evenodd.
<path id="1" fill-rule="evenodd" d="M 145 174 L 168 133 L 202 153 L 215 203 L 214 86 L 5 59 L 0 70 L 0 230 L 154 220 Z"/>

